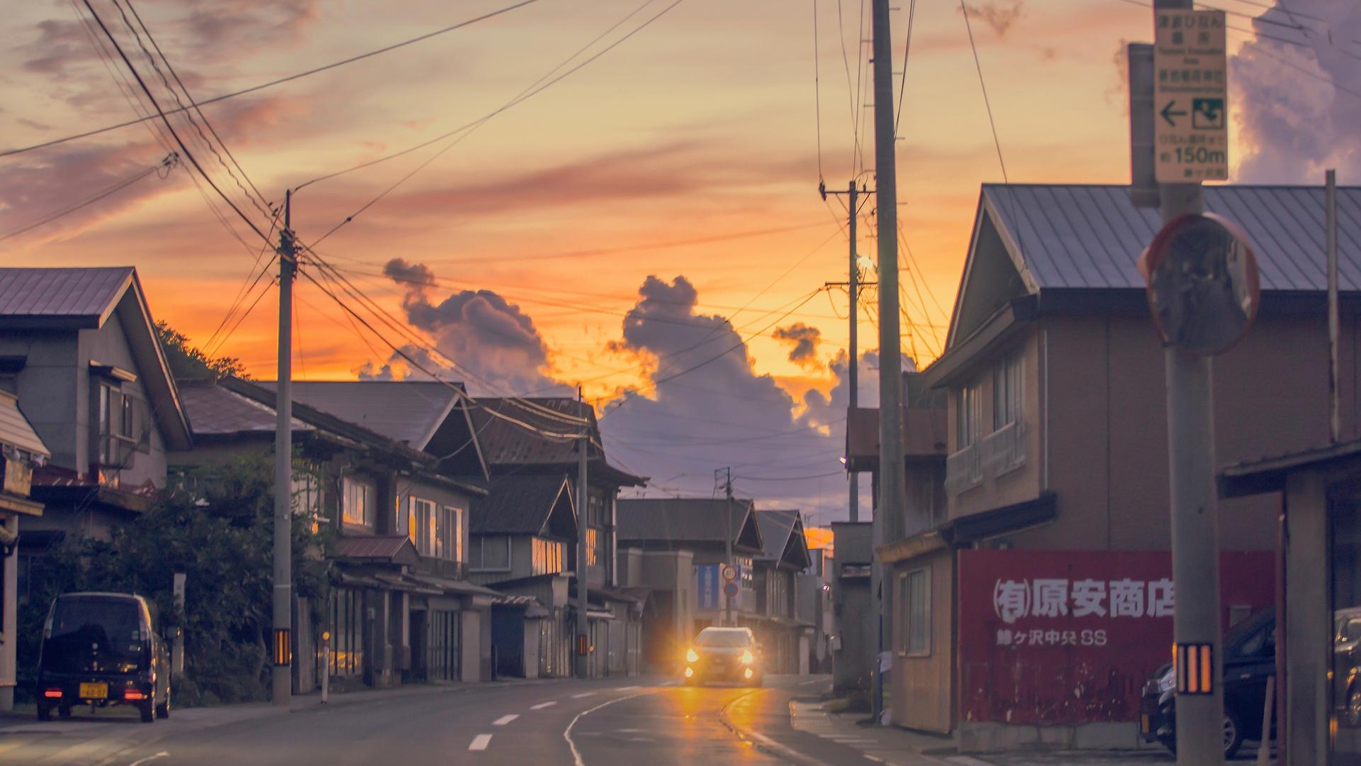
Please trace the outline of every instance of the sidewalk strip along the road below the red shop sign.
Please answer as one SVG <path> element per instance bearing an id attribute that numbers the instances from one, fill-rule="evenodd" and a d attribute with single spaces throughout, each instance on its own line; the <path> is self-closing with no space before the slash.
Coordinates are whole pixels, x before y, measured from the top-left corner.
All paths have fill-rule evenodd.
<path id="1" fill-rule="evenodd" d="M 862 726 L 857 722 L 860 718 L 864 718 L 863 713 L 827 713 L 819 702 L 789 703 L 789 722 L 796 731 L 851 747 L 870 761 L 890 766 L 1071 766 L 1079 763 L 1082 766 L 1143 766 L 1176 762 L 1176 758 L 1164 750 L 1015 751 L 960 755 L 951 736 L 911 732 L 898 726 Z"/>

